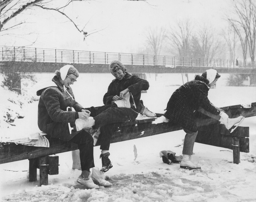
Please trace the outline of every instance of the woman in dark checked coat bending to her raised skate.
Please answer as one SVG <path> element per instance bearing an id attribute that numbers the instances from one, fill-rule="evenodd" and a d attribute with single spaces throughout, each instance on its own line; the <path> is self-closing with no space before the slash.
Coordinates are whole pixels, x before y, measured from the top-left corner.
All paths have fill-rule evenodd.
<path id="1" fill-rule="evenodd" d="M 201 76 L 196 75 L 195 79 L 185 83 L 175 90 L 167 103 L 163 121 L 171 121 L 185 131 L 186 136 L 183 146 L 183 158 L 180 168 L 200 169 L 201 167 L 191 161 L 193 147 L 198 129 L 196 126 L 196 112 L 201 112 L 209 117 L 224 123 L 230 129 L 236 123 L 243 120 L 243 116 L 229 119 L 224 110 L 212 105 L 208 99 L 208 91 L 216 85 L 220 75 L 215 69 L 206 70 Z"/>

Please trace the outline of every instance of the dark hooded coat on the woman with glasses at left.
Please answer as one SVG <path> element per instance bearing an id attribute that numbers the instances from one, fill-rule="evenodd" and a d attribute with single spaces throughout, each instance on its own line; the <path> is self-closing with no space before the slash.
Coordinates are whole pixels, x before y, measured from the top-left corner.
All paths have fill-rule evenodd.
<path id="1" fill-rule="evenodd" d="M 38 90 L 36 94 L 40 96 L 38 103 L 38 127 L 51 137 L 60 138 L 63 141 L 71 140 L 78 132 L 69 133 L 68 123 L 75 123 L 76 112 L 84 109 L 75 101 L 72 89 L 67 89 L 73 99 L 64 91 L 60 81 L 53 77 L 52 85 L 48 88 Z M 57 85 L 57 86 L 56 86 Z M 67 112 L 67 107 L 73 107 L 75 111 Z"/>

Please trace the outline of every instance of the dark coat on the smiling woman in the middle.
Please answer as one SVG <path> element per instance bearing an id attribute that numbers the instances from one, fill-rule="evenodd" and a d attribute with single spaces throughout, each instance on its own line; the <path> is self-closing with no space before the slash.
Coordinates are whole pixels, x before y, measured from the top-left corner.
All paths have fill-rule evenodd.
<path id="1" fill-rule="evenodd" d="M 141 79 L 138 76 L 131 75 L 126 72 L 122 80 L 114 79 L 108 86 L 108 92 L 103 97 L 104 105 L 110 105 L 113 101 L 114 96 L 119 96 L 120 92 L 128 88 L 132 93 L 135 105 L 137 107 L 137 112 L 140 111 L 140 96 L 141 90 L 148 90 L 149 83 L 145 79 Z M 130 102 L 132 103 L 132 97 L 130 97 Z"/>

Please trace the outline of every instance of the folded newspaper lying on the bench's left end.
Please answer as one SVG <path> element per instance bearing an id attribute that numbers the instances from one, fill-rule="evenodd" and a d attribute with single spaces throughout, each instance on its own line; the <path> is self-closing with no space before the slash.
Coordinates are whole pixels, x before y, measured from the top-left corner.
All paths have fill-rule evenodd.
<path id="1" fill-rule="evenodd" d="M 6 142 L 14 142 L 15 144 L 23 144 L 34 147 L 50 147 L 48 139 L 45 137 L 46 133 L 33 133 L 28 135 L 28 137 L 6 138 Z"/>

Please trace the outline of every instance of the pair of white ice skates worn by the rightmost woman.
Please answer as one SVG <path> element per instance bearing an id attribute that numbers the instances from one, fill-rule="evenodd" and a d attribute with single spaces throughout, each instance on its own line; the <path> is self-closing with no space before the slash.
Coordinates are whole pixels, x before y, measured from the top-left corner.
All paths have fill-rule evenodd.
<path id="1" fill-rule="evenodd" d="M 220 113 L 219 121 L 223 123 L 228 130 L 230 130 L 235 124 L 237 124 L 236 127 L 231 129 L 230 133 L 232 133 L 237 128 L 237 126 L 239 126 L 243 122 L 243 120 L 244 120 L 243 116 L 230 119 L 228 118 L 228 114 L 226 114 L 225 112 Z M 191 161 L 191 155 L 186 155 L 186 154 L 183 154 L 182 161 L 180 162 L 180 168 L 189 169 L 189 170 L 201 169 L 199 165 Z"/>

